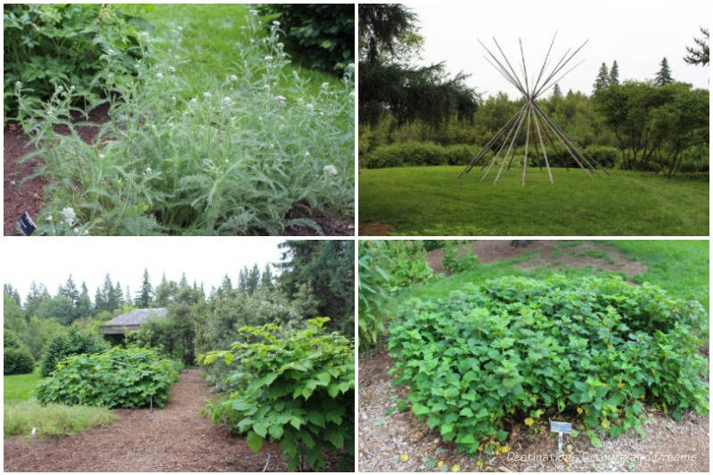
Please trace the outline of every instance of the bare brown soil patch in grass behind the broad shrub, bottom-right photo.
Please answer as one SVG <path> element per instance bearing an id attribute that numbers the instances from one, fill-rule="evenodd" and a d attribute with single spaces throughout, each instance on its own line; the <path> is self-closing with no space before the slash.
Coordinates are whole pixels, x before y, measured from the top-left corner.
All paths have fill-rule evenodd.
<path id="1" fill-rule="evenodd" d="M 527 247 L 512 246 L 511 240 L 472 241 L 461 244 L 456 249 L 459 252 L 470 249 L 478 256 L 478 261 L 488 264 L 495 260 L 519 258 L 527 252 L 532 257 L 515 264 L 523 269 L 531 270 L 537 267 L 600 267 L 611 272 L 627 275 L 628 279 L 646 270 L 646 266 L 627 258 L 619 250 L 614 250 L 596 242 L 581 242 L 572 246 L 561 246 L 565 241 L 530 241 Z M 574 244 L 574 242 L 572 242 Z M 442 266 L 443 250 L 431 250 L 426 254 L 433 270 L 439 274 L 448 274 Z"/>

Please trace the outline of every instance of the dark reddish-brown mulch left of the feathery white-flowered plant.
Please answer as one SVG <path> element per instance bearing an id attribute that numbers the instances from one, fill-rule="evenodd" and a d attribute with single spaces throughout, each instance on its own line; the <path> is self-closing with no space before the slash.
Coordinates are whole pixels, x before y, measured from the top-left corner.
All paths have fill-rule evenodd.
<path id="1" fill-rule="evenodd" d="M 78 118 L 76 118 L 78 119 Z M 101 125 L 109 121 L 109 106 L 103 104 L 89 114 L 89 120 Z M 66 127 L 57 127 L 57 132 L 67 134 Z M 78 134 L 87 142 L 94 142 L 99 127 L 78 127 Z M 20 127 L 15 124 L 8 124 L 3 130 L 4 154 L 4 215 L 3 233 L 5 236 L 17 236 L 20 232 L 15 225 L 22 213 L 27 211 L 29 216 L 37 217 L 37 212 L 42 205 L 43 190 L 47 182 L 39 177 L 34 177 L 27 181 L 23 178 L 31 176 L 37 171 L 37 165 L 42 159 L 34 157 L 24 163 L 19 160 L 32 152 L 34 147 L 30 147 L 29 137 L 22 133 Z"/>

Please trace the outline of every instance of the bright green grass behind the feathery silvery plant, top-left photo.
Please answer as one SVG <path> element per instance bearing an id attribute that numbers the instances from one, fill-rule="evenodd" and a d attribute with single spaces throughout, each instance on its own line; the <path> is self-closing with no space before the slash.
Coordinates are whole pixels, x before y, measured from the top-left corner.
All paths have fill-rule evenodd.
<path id="1" fill-rule="evenodd" d="M 233 74 L 235 50 L 250 41 L 241 28 L 250 15 L 245 4 L 155 4 L 151 12 L 142 14 L 156 27 L 157 37 L 170 37 L 171 29 L 183 28 L 182 51 L 178 55 L 188 62 L 176 70 L 187 82 L 187 99 L 209 91 Z M 291 70 L 297 70 L 301 77 L 309 78 L 315 93 L 323 82 L 340 83 L 340 78 L 321 71 L 296 65 L 288 68 L 290 75 Z"/>

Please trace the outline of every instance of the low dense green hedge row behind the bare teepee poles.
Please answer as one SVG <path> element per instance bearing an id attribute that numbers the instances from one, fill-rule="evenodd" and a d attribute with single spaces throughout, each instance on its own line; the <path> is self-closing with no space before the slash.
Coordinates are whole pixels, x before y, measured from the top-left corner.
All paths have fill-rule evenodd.
<path id="1" fill-rule="evenodd" d="M 520 167 L 524 155 L 524 147 L 518 147 L 512 166 Z M 372 153 L 362 156 L 362 168 L 389 168 L 420 165 L 467 165 L 480 151 L 478 145 L 439 145 L 432 142 L 403 142 L 392 143 L 377 147 Z M 572 160 L 570 153 L 563 147 L 545 147 L 547 160 L 551 167 L 578 167 Z M 590 145 L 585 149 L 586 157 L 593 158 L 602 167 L 612 168 L 619 160 L 619 149 L 615 147 Z M 528 166 L 545 167 L 542 153 L 537 149 L 538 155 L 529 148 Z M 504 152 L 501 153 L 501 157 Z M 488 153 L 487 160 L 479 160 L 480 164 L 488 163 L 492 154 Z M 498 163 L 500 159 L 498 159 Z"/>

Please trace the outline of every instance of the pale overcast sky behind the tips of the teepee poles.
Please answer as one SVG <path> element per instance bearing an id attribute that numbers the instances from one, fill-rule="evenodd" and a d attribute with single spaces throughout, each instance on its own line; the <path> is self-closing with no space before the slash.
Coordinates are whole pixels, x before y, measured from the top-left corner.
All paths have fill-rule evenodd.
<path id="1" fill-rule="evenodd" d="M 555 31 L 553 52 L 557 60 L 570 46 L 574 50 L 589 39 L 570 65 L 586 61 L 560 82 L 565 93 L 571 88 L 590 94 L 602 62 L 610 67 L 616 60 L 620 80 L 653 78 L 664 56 L 675 80 L 708 89 L 709 68 L 689 65 L 683 60 L 685 46 L 693 45 L 693 37 L 701 37 L 699 26 L 705 26 L 709 20 L 708 4 L 699 0 L 406 3 L 418 15 L 425 38 L 420 62 L 446 61 L 451 73 L 463 70 L 471 74 L 468 85 L 476 86 L 484 97 L 498 91 L 510 97 L 519 97 L 520 93 L 482 58 L 485 51 L 476 38 L 493 51 L 490 46 L 495 36 L 521 76 L 518 45 L 521 37 L 532 77 L 532 71 L 539 71 L 542 66 Z"/>

